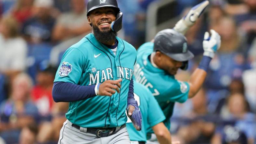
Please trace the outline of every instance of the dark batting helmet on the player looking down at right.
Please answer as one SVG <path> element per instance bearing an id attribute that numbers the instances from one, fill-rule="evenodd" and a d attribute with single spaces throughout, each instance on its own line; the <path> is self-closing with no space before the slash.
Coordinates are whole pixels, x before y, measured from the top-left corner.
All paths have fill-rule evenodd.
<path id="1" fill-rule="evenodd" d="M 154 51 L 160 51 L 176 61 L 183 62 L 183 70 L 187 69 L 188 60 L 194 57 L 187 49 L 186 37 L 173 29 L 161 30 L 156 34 Z"/>

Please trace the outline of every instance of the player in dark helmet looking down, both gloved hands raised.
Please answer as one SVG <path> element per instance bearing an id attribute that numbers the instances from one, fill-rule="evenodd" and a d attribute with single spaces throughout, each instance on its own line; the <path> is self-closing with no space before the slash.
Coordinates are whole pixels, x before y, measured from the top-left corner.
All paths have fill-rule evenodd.
<path id="1" fill-rule="evenodd" d="M 145 85 L 155 96 L 166 119 L 165 126 L 170 128 L 170 117 L 175 102 L 185 102 L 192 98 L 202 86 L 207 68 L 215 52 L 220 47 L 220 36 L 214 30 L 205 32 L 203 58 L 188 82 L 178 81 L 174 75 L 179 68 L 186 70 L 188 60 L 194 55 L 187 49 L 183 34 L 200 16 L 208 1 L 194 6 L 188 14 L 175 25 L 174 29 L 158 32 L 154 42 L 147 42 L 137 50 L 137 62 L 134 66 L 135 81 Z M 153 133 L 153 131 L 149 131 Z M 148 135 L 150 137 L 151 134 Z"/>

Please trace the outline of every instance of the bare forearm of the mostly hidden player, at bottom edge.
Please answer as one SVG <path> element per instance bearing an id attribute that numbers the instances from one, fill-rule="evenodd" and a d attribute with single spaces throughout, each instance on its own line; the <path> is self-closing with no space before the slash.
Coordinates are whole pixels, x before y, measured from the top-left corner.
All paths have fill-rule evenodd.
<path id="1" fill-rule="evenodd" d="M 172 138 L 169 130 L 163 123 L 159 123 L 152 127 L 160 144 L 171 144 Z"/>

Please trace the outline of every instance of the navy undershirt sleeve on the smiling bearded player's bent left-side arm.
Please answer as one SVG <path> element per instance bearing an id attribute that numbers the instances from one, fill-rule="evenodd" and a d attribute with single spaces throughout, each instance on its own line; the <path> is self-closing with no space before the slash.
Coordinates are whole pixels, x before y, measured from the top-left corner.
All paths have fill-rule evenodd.
<path id="1" fill-rule="evenodd" d="M 55 102 L 76 102 L 96 96 L 95 86 L 80 86 L 70 82 L 54 82 L 52 96 Z"/>

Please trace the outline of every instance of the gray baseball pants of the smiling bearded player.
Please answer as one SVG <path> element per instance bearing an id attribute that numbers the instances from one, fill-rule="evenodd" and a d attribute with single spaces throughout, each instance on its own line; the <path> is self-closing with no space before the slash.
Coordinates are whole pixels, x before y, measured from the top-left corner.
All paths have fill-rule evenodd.
<path id="1" fill-rule="evenodd" d="M 83 130 L 82 130 L 83 131 Z M 58 144 L 131 144 L 126 127 L 108 136 L 96 138 L 96 135 L 82 132 L 67 120 L 60 130 Z"/>

